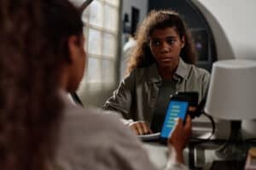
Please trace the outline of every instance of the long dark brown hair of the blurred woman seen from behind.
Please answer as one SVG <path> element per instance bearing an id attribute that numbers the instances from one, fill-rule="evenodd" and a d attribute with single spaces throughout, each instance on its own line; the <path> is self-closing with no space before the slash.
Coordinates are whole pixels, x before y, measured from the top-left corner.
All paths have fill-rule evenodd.
<path id="1" fill-rule="evenodd" d="M 1 0 L 0 23 L 0 168 L 45 170 L 58 141 L 67 39 L 82 35 L 80 13 L 67 0 Z"/>

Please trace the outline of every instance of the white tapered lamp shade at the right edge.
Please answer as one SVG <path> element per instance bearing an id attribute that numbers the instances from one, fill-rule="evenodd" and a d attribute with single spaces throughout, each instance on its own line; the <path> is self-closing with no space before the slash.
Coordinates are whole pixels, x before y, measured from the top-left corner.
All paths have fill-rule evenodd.
<path id="1" fill-rule="evenodd" d="M 256 61 L 229 59 L 213 63 L 205 111 L 226 120 L 256 118 Z"/>

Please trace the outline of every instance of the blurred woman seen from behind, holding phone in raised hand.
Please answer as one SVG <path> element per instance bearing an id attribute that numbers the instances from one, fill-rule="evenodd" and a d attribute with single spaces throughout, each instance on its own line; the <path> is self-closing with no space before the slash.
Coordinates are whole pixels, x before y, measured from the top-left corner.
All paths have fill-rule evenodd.
<path id="1" fill-rule="evenodd" d="M 2 0 L 0 22 L 1 169 L 155 169 L 118 116 L 67 99 L 86 57 L 77 8 L 67 0 Z M 177 121 L 166 169 L 186 168 L 190 133 L 189 117 L 184 126 Z"/>

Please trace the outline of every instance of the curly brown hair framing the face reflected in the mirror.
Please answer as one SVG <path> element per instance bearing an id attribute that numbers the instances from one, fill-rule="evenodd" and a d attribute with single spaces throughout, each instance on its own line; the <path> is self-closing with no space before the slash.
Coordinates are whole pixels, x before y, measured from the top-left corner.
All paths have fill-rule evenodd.
<path id="1" fill-rule="evenodd" d="M 194 42 L 183 19 L 172 10 L 152 10 L 137 30 L 137 46 L 131 52 L 127 73 L 130 73 L 134 68 L 145 67 L 155 62 L 149 48 L 149 37 L 155 29 L 166 27 L 175 27 L 179 37 L 184 36 L 185 45 L 181 50 L 180 57 L 188 64 L 195 64 Z"/>

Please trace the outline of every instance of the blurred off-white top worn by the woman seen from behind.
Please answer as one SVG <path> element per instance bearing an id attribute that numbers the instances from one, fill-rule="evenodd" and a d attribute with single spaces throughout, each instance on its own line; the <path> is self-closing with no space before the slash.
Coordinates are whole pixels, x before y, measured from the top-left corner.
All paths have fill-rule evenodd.
<path id="1" fill-rule="evenodd" d="M 139 139 L 119 122 L 119 116 L 84 110 L 65 99 L 60 143 L 52 169 L 154 170 Z M 170 166 L 171 165 L 171 166 Z M 166 169 L 187 169 L 169 159 Z"/>

